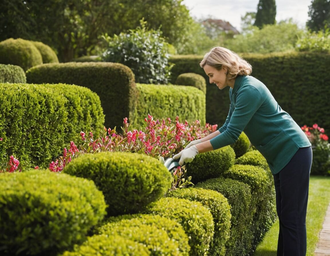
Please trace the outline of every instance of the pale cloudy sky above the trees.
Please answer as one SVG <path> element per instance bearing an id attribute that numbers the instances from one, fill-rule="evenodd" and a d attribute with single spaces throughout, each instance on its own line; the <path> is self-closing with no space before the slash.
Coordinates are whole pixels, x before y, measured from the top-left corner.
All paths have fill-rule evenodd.
<path id="1" fill-rule="evenodd" d="M 259 0 L 183 0 L 192 17 L 215 18 L 229 21 L 241 31 L 241 16 L 256 12 Z M 292 18 L 299 27 L 309 19 L 308 7 L 312 0 L 276 0 L 276 21 Z"/>

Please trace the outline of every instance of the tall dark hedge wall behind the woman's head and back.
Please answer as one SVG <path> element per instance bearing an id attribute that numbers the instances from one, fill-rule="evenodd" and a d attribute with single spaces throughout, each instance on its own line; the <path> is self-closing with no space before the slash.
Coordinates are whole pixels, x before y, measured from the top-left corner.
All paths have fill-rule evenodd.
<path id="1" fill-rule="evenodd" d="M 330 54 L 312 52 L 278 54 L 239 54 L 252 65 L 252 76 L 261 80 L 272 92 L 281 108 L 288 112 L 299 125 L 317 122 L 330 129 Z M 219 90 L 210 85 L 209 78 L 199 66 L 203 56 L 173 56 L 171 82 L 178 75 L 193 72 L 205 77 L 206 121 L 224 123 L 229 110 L 229 88 Z"/>

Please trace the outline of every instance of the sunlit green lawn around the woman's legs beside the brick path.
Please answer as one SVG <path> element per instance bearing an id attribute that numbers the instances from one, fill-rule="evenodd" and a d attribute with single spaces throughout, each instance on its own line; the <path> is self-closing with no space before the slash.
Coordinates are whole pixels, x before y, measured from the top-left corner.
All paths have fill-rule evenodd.
<path id="1" fill-rule="evenodd" d="M 314 256 L 318 234 L 330 202 L 330 177 L 311 176 L 307 206 L 307 254 Z M 276 256 L 279 221 L 277 220 L 252 256 Z"/>

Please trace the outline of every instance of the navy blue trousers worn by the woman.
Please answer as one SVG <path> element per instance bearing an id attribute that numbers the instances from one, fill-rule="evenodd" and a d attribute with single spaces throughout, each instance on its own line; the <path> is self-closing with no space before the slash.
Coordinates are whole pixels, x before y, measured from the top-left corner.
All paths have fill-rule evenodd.
<path id="1" fill-rule="evenodd" d="M 273 175 L 280 220 L 277 256 L 306 255 L 306 211 L 312 156 L 311 147 L 300 148 L 290 162 Z"/>

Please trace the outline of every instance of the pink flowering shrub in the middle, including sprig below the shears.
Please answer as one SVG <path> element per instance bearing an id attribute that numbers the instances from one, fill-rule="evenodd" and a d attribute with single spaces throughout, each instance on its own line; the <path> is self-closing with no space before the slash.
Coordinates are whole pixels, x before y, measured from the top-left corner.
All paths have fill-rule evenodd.
<path id="1" fill-rule="evenodd" d="M 193 141 L 205 137 L 214 132 L 217 125 L 206 124 L 202 127 L 196 120 L 192 124 L 179 122 L 176 117 L 175 122 L 170 118 L 161 121 L 153 120 L 151 115 L 145 118 L 146 127 L 139 130 L 129 130 L 127 117 L 123 120 L 122 134 L 118 134 L 115 129 L 104 129 L 97 138 L 92 132 L 86 135 L 81 132 L 83 144 L 77 146 L 73 141 L 70 149 L 63 149 L 63 154 L 49 165 L 49 170 L 58 172 L 71 162 L 75 157 L 84 153 L 97 153 L 103 151 L 128 151 L 133 153 L 147 154 L 157 159 L 171 157 L 180 152 L 187 141 Z M 189 177 L 185 177 L 184 166 L 173 173 L 173 186 L 184 187 L 191 184 Z"/>

